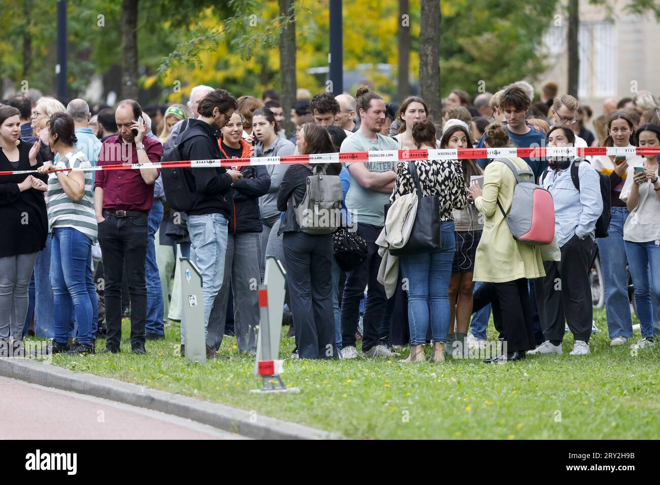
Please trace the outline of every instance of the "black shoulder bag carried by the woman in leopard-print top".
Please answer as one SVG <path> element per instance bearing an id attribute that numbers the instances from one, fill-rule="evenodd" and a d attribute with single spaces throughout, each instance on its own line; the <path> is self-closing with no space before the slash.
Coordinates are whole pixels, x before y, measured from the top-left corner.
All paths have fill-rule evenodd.
<path id="1" fill-rule="evenodd" d="M 440 239 L 440 199 L 437 195 L 422 197 L 417 168 L 411 161 L 408 170 L 413 177 L 417 189 L 417 214 L 413 222 L 410 238 L 401 249 L 389 249 L 393 256 L 403 256 L 418 253 L 432 253 L 442 249 Z"/>

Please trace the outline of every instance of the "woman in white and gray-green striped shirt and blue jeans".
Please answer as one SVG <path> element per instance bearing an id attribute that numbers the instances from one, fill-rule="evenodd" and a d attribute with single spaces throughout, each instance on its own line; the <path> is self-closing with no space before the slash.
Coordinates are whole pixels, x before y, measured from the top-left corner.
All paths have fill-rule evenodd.
<path id="1" fill-rule="evenodd" d="M 73 118 L 54 113 L 48 121 L 49 141 L 57 164 L 39 168 L 48 178 L 48 224 L 51 227 L 51 284 L 55 301 L 55 338 L 53 354 L 94 354 L 92 315 L 96 311 L 96 293 L 88 290 L 86 271 L 96 242 L 92 172 L 55 172 L 63 168 L 88 168 L 90 162 L 75 148 L 77 142 Z M 36 183 L 36 182 L 35 182 Z M 46 185 L 40 185 L 46 190 Z M 71 313 L 78 325 L 78 339 L 69 348 Z"/>

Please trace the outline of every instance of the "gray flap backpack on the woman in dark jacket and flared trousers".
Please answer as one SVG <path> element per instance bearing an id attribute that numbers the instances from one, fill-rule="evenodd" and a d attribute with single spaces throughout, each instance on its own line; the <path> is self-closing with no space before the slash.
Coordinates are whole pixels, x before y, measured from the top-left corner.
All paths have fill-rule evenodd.
<path id="1" fill-rule="evenodd" d="M 307 178 L 302 201 L 296 205 L 291 198 L 296 222 L 306 234 L 331 234 L 341 226 L 339 207 L 344 200 L 341 180 L 339 176 L 326 175 L 326 170 L 327 164 L 312 165 L 315 175 Z"/>

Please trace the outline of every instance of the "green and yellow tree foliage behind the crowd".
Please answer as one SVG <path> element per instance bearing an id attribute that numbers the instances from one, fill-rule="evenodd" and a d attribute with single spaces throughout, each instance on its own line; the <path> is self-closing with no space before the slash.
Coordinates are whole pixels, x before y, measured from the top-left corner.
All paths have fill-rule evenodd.
<path id="1" fill-rule="evenodd" d="M 612 9 L 612 0 L 590 0 Z M 296 0 L 296 68 L 298 84 L 318 92 L 324 75 L 308 69 L 327 65 L 329 0 Z M 562 4 L 565 3 L 562 2 Z M 543 33 L 559 0 L 442 0 L 442 92 L 455 88 L 476 92 L 479 81 L 494 92 L 546 69 L 541 57 Z M 0 8 L 0 77 L 17 88 L 52 94 L 55 88 L 56 2 L 3 0 Z M 69 0 L 69 86 L 82 94 L 94 75 L 121 67 L 121 2 Z M 397 0 L 344 2 L 344 67 L 360 67 L 362 79 L 381 92 L 396 91 Z M 628 0 L 627 12 L 660 18 L 658 0 Z M 411 82 L 418 73 L 420 3 L 410 0 Z M 104 25 L 99 25 L 102 15 Z M 138 18 L 139 83 L 145 102 L 182 100 L 194 84 L 222 86 L 232 93 L 253 94 L 279 86 L 279 32 L 286 18 L 277 0 L 140 0 Z M 22 40 L 32 42 L 32 63 L 23 75 Z M 383 75 L 376 66 L 394 67 Z M 371 66 L 371 67 L 370 67 Z M 360 81 L 362 81 L 360 79 Z M 181 81 L 182 92 L 172 89 Z M 347 91 L 356 86 L 345 86 Z M 107 88 L 107 86 L 106 86 Z"/>

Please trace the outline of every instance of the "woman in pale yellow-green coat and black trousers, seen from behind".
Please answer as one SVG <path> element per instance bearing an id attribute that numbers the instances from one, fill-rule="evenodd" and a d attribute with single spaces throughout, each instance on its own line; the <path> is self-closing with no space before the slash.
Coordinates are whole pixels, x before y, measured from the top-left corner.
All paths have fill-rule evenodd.
<path id="1" fill-rule="evenodd" d="M 506 128 L 500 123 L 488 125 L 485 143 L 488 148 L 510 146 Z M 522 158 L 510 160 L 520 170 L 531 170 Z M 478 183 L 471 186 L 475 206 L 486 216 L 473 277 L 484 284 L 475 292 L 473 311 L 492 304 L 495 329 L 502 340 L 502 352 L 484 360 L 486 363 L 520 360 L 526 350 L 535 348 L 527 279 L 545 276 L 541 249 L 513 239 L 497 206 L 499 200 L 505 212 L 511 209 L 515 185 L 515 176 L 508 166 L 491 162 L 484 171 L 483 191 Z"/>

